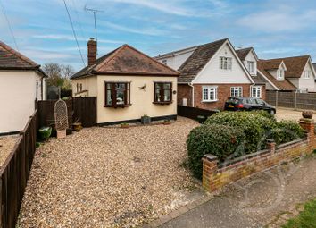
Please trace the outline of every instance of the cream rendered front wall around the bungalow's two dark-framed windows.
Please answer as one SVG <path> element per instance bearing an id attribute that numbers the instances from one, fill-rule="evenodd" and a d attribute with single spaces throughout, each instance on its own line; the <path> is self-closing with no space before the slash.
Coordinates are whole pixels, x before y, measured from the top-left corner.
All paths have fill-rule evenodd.
<path id="1" fill-rule="evenodd" d="M 172 82 L 172 90 L 177 91 L 177 77 L 143 77 L 143 76 L 97 76 L 97 123 L 120 122 L 140 119 L 144 114 L 150 117 L 177 114 L 177 95 L 172 94 L 170 105 L 155 105 L 154 81 Z M 104 82 L 130 82 L 131 106 L 124 108 L 104 107 Z M 146 84 L 146 89 L 139 89 Z"/>

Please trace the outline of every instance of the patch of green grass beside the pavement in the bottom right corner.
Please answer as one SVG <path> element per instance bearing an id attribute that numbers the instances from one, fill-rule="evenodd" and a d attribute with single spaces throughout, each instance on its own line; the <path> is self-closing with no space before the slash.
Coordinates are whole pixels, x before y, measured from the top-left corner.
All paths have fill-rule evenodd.
<path id="1" fill-rule="evenodd" d="M 312 228 L 316 227 L 316 199 L 307 202 L 295 218 L 290 219 L 283 228 Z"/>

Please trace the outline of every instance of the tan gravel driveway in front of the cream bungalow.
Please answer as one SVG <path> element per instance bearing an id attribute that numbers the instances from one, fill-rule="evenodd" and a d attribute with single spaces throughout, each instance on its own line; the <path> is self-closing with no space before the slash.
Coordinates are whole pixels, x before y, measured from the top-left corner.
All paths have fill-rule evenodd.
<path id="1" fill-rule="evenodd" d="M 197 122 L 90 128 L 37 148 L 21 227 L 134 227 L 188 203 L 181 166 Z"/>

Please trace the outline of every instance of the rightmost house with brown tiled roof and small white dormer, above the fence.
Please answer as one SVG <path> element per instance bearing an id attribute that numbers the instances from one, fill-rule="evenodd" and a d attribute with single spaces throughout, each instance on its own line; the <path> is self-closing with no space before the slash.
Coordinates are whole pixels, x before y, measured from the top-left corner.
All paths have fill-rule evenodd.
<path id="1" fill-rule="evenodd" d="M 267 90 L 315 91 L 316 72 L 310 55 L 259 60 L 258 73 L 268 81 Z"/>

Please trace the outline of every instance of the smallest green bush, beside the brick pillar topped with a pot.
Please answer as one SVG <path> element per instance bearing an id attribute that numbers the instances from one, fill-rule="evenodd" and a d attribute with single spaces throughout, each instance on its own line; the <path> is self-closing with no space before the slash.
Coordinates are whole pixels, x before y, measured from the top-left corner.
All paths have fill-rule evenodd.
<path id="1" fill-rule="evenodd" d="M 304 137 L 304 129 L 295 121 L 277 122 L 274 129 L 270 131 L 270 139 L 274 139 L 277 144 L 286 143 Z"/>

